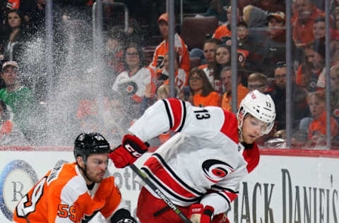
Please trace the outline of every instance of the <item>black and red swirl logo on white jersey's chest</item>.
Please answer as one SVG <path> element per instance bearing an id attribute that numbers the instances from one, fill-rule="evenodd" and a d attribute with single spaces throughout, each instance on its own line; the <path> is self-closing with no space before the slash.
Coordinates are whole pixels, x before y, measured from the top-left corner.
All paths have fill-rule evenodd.
<path id="1" fill-rule="evenodd" d="M 229 164 L 218 159 L 207 159 L 203 162 L 202 167 L 203 174 L 213 183 L 221 181 L 234 170 Z"/>

